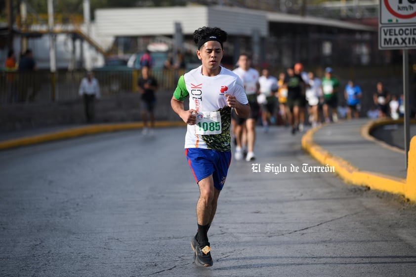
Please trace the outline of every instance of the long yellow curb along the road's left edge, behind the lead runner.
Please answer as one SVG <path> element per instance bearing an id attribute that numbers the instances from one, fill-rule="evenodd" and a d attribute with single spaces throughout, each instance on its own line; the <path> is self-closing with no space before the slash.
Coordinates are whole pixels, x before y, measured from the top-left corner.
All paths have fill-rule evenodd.
<path id="1" fill-rule="evenodd" d="M 160 121 L 155 122 L 155 127 L 173 127 L 185 126 L 182 121 Z M 91 135 L 103 132 L 114 132 L 122 130 L 140 129 L 143 128 L 142 122 L 130 123 L 109 123 L 109 124 L 95 124 L 82 127 L 74 127 L 63 131 L 56 131 L 42 135 L 29 136 L 25 138 L 12 139 L 0 142 L 0 150 L 10 149 L 15 147 L 38 144 L 48 141 L 61 140 L 67 138 L 75 138 L 84 135 Z"/>

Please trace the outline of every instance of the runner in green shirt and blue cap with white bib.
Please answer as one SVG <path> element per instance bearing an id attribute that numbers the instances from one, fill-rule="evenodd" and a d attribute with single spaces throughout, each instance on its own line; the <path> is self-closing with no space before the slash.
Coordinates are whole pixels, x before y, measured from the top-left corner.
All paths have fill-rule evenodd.
<path id="1" fill-rule="evenodd" d="M 338 116 L 336 108 L 338 106 L 338 90 L 339 81 L 333 77 L 333 69 L 327 67 L 325 69 L 325 76 L 322 79 L 322 92 L 324 94 L 324 105 L 322 112 L 324 114 L 325 122 L 330 122 L 330 110 L 332 113 L 332 121 L 337 122 Z"/>

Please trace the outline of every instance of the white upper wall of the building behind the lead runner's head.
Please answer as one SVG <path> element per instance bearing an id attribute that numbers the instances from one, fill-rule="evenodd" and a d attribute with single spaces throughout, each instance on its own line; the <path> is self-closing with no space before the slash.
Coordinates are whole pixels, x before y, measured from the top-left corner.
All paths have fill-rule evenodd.
<path id="1" fill-rule="evenodd" d="M 268 35 L 266 13 L 225 6 L 186 6 L 152 8 L 97 9 L 95 24 L 101 36 L 172 35 L 174 23 L 181 23 L 182 32 L 192 35 L 203 26 L 219 27 L 229 35 L 251 35 L 258 29 Z"/>

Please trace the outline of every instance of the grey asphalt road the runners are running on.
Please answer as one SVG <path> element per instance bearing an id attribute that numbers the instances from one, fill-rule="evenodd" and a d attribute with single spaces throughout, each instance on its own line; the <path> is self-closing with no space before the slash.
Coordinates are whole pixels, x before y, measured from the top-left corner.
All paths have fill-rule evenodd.
<path id="1" fill-rule="evenodd" d="M 1 151 L 0 276 L 415 276 L 416 206 L 302 172 L 318 164 L 284 127 L 258 129 L 261 172 L 231 163 L 208 234 L 214 265 L 197 267 L 199 193 L 184 133 L 124 131 Z M 267 163 L 287 172 L 266 173 Z"/>

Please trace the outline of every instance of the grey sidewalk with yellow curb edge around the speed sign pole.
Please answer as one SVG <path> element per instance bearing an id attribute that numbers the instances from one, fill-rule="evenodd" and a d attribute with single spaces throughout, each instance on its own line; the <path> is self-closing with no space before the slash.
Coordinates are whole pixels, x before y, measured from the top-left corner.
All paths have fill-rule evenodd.
<path id="1" fill-rule="evenodd" d="M 321 164 L 334 167 L 346 183 L 398 194 L 415 202 L 416 137 L 410 142 L 406 165 L 403 150 L 369 135 L 373 127 L 393 122 L 359 119 L 324 125 L 302 137 L 302 148 Z"/>

